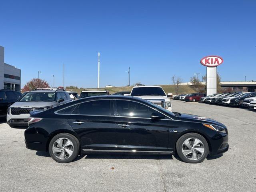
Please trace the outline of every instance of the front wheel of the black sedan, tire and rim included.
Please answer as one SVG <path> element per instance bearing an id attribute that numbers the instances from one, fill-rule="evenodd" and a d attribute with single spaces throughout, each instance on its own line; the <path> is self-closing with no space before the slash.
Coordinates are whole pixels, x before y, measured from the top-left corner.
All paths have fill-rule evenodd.
<path id="1" fill-rule="evenodd" d="M 198 143 L 196 146 L 193 146 L 193 140 Z M 200 163 L 207 157 L 209 146 L 205 138 L 200 134 L 187 133 L 182 135 L 176 142 L 176 152 L 181 160 L 186 163 Z"/>

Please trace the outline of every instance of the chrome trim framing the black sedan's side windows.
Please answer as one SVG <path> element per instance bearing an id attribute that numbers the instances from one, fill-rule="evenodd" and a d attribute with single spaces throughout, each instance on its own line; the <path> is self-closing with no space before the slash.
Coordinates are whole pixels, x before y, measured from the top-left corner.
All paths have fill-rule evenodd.
<path id="1" fill-rule="evenodd" d="M 90 101 L 85 101 L 85 102 L 91 102 L 91 101 L 99 101 L 99 100 L 122 100 L 122 101 L 131 101 L 131 100 L 128 100 L 128 99 L 96 99 L 96 100 L 90 100 Z M 79 104 L 82 104 L 82 103 L 85 103 L 85 102 L 81 102 L 81 103 L 78 103 L 78 104 L 74 104 L 74 105 L 79 105 Z M 131 101 L 131 102 L 137 102 L 137 101 Z M 139 104 L 142 104 L 142 103 L 140 103 L 140 102 L 137 102 L 137 103 L 139 103 Z M 69 108 L 69 107 L 72 107 L 72 106 L 74 106 L 74 105 L 70 105 L 70 106 L 68 106 L 68 107 L 65 107 L 65 108 L 62 108 L 62 109 L 60 109 L 60 110 L 64 110 L 64 109 L 66 109 L 66 108 Z M 145 104 L 142 104 L 142 105 L 145 105 Z M 145 105 L 145 106 L 147 106 L 147 105 Z M 152 107 L 150 107 L 150 106 L 147 106 L 147 107 L 149 107 L 149 108 L 152 108 Z M 155 108 L 152 108 L 153 110 L 156 110 Z M 60 114 L 60 113 L 58 113 L 58 111 L 60 111 L 60 110 L 57 110 L 57 111 L 54 111 L 54 113 L 56 114 L 56 115 L 86 115 L 86 114 Z M 166 117 L 168 117 L 168 118 L 170 118 L 169 116 L 167 116 L 166 114 L 164 114 L 164 113 L 162 113 L 162 112 L 160 112 L 160 111 L 158 111 L 158 110 L 156 110 L 157 112 L 159 112 L 159 113 L 161 113 L 161 114 L 163 114 L 164 116 L 166 116 Z M 145 118 L 145 117 L 129 117 L 129 116 L 112 116 L 112 115 L 86 115 L 86 116 L 103 116 L 103 117 L 125 117 L 125 118 L 143 118 L 143 119 L 151 119 L 151 118 Z M 170 118 L 171 120 L 173 120 L 172 118 Z"/>

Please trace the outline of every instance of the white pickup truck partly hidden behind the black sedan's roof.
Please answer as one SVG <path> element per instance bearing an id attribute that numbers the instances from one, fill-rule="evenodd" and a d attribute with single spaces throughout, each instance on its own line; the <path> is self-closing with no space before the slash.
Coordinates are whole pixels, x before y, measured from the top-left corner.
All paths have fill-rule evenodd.
<path id="1" fill-rule="evenodd" d="M 166 96 L 166 93 L 160 86 L 135 86 L 132 88 L 130 96 L 145 99 L 160 107 L 172 111 L 171 100 Z"/>

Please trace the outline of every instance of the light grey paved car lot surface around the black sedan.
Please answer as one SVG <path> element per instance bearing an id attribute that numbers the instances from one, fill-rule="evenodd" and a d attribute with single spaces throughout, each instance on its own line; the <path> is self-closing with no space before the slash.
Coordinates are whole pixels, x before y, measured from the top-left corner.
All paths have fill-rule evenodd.
<path id="1" fill-rule="evenodd" d="M 200 164 L 174 156 L 88 155 L 59 164 L 25 148 L 24 128 L 0 124 L 0 191 L 254 191 L 256 112 L 172 100 L 173 110 L 228 127 L 230 149 Z"/>

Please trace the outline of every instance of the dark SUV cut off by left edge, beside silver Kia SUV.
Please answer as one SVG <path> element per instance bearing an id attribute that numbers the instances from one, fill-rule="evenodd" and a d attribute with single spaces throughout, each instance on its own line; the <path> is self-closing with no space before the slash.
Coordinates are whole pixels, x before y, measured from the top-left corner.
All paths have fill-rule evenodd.
<path id="1" fill-rule="evenodd" d="M 6 117 L 7 109 L 22 98 L 21 92 L 15 90 L 0 90 L 0 118 Z"/>

